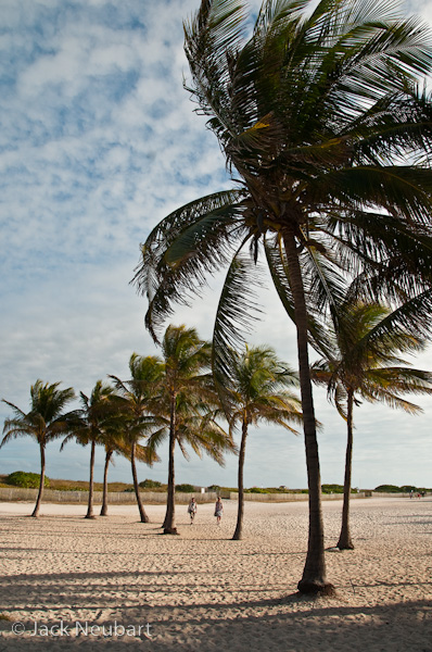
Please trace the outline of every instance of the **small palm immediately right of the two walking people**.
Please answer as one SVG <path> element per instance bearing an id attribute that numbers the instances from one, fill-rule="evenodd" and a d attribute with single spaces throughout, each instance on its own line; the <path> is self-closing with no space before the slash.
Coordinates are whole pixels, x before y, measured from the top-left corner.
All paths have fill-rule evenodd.
<path id="1" fill-rule="evenodd" d="M 302 411 L 300 400 L 288 391 L 298 384 L 297 377 L 277 359 L 272 349 L 246 346 L 241 353 L 232 351 L 231 369 L 229 392 L 234 409 L 229 418 L 230 432 L 237 424 L 241 425 L 239 505 L 232 537 L 239 540 L 243 528 L 243 468 L 249 426 L 264 421 L 297 434 L 290 422 L 302 423 Z"/>

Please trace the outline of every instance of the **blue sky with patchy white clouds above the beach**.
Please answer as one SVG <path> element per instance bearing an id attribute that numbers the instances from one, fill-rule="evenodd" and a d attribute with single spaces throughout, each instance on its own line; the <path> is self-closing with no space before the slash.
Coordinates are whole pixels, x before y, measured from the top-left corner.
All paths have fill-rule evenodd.
<path id="1" fill-rule="evenodd" d="M 250 2 L 256 11 L 259 0 Z M 0 398 L 27 411 L 36 379 L 77 393 L 98 379 L 128 378 L 136 351 L 157 354 L 147 333 L 145 300 L 130 285 L 150 229 L 186 202 L 231 187 L 215 136 L 194 112 L 183 76 L 182 21 L 199 0 L 1 0 L 0 25 Z M 428 0 L 411 2 L 432 23 Z M 209 338 L 220 278 L 170 323 Z M 296 366 L 295 335 L 270 285 L 249 341 L 272 346 Z M 314 360 L 314 354 L 312 354 Z M 432 351 L 415 361 L 432 367 Z M 322 482 L 343 482 L 345 424 L 314 390 Z M 364 403 L 355 413 L 353 486 L 432 486 L 432 399 L 423 414 Z M 78 403 L 72 403 L 71 408 Z M 0 425 L 11 416 L 0 403 Z M 89 450 L 48 447 L 51 478 L 85 480 Z M 225 467 L 176 456 L 178 482 L 234 487 L 237 457 Z M 39 471 L 29 438 L 0 449 L 0 474 Z M 103 451 L 96 463 L 102 479 Z M 245 486 L 304 488 L 302 436 L 251 430 Z M 166 481 L 167 451 L 139 479 Z M 129 482 L 115 459 L 110 479 Z"/>

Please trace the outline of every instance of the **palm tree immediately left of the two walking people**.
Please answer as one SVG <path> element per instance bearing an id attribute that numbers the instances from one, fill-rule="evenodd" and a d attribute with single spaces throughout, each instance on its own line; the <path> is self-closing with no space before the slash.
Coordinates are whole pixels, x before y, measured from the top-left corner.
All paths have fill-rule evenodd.
<path id="1" fill-rule="evenodd" d="M 165 411 L 166 427 L 149 438 L 149 446 L 155 448 L 168 438 L 168 488 L 164 534 L 177 535 L 175 521 L 175 464 L 174 451 L 178 443 L 188 457 L 186 444 L 198 454 L 207 452 L 219 464 L 223 450 L 232 450 L 232 442 L 215 421 L 219 410 L 217 393 L 212 375 L 211 347 L 201 340 L 194 328 L 168 326 L 162 341 L 165 360 L 164 402 L 160 414 Z"/>

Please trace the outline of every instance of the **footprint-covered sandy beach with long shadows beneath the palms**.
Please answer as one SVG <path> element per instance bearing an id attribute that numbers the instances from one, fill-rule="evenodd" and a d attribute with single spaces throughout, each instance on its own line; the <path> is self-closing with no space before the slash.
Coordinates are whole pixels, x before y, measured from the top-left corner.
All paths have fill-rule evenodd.
<path id="1" fill-rule="evenodd" d="M 213 505 L 180 537 L 162 536 L 135 506 L 84 519 L 79 505 L 0 503 L 0 652 L 280 650 L 432 652 L 432 499 L 359 499 L 354 551 L 328 551 L 334 598 L 296 593 L 307 504 L 245 505 L 245 536 L 231 541 L 237 503 Z M 340 501 L 323 503 L 326 547 L 338 540 Z M 14 629 L 14 631 L 13 631 Z"/>

